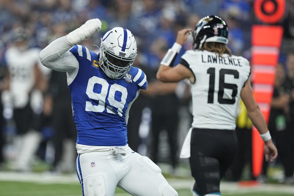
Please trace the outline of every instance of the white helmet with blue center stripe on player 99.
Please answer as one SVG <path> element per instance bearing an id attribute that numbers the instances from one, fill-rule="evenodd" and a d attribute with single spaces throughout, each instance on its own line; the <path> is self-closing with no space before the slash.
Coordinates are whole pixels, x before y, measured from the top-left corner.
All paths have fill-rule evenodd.
<path id="1" fill-rule="evenodd" d="M 136 56 L 136 40 L 128 29 L 115 27 L 101 38 L 99 65 L 108 77 L 122 78 Z"/>

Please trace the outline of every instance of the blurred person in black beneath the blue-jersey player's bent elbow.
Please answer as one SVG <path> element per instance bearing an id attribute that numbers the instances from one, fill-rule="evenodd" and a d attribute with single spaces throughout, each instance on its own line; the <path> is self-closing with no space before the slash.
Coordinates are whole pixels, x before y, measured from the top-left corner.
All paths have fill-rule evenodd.
<path id="1" fill-rule="evenodd" d="M 52 171 L 74 171 L 74 160 L 77 157 L 75 142 L 77 129 L 73 120 L 70 89 L 66 82 L 66 73 L 53 70 L 49 82 L 48 98 L 51 99 L 52 124 L 54 135 L 52 137 L 55 157 Z"/>

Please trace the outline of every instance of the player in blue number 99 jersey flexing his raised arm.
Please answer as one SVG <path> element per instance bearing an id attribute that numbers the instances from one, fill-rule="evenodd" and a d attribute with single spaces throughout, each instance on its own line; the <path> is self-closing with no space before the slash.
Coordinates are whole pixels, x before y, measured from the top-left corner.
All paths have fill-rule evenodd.
<path id="1" fill-rule="evenodd" d="M 100 20 L 91 19 L 40 52 L 44 66 L 67 73 L 82 194 L 113 196 L 120 187 L 131 195 L 177 196 L 160 168 L 127 144 L 130 107 L 147 88 L 144 72 L 132 66 L 137 56 L 132 33 L 111 29 L 101 38 L 99 54 L 76 45 L 100 28 Z"/>

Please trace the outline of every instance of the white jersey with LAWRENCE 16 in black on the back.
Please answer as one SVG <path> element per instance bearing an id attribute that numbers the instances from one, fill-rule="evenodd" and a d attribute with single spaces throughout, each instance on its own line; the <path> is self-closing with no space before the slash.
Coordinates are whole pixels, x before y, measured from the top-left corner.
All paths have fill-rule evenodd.
<path id="1" fill-rule="evenodd" d="M 250 75 L 248 60 L 206 50 L 187 51 L 181 58 L 180 63 L 190 68 L 196 78 L 191 85 L 192 126 L 235 129 L 240 92 Z"/>

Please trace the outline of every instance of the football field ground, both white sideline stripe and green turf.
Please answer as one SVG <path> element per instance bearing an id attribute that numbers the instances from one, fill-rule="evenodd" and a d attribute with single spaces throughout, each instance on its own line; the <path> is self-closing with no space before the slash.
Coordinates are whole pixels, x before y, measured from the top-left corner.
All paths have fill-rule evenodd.
<path id="1" fill-rule="evenodd" d="M 192 196 L 192 177 L 165 176 L 168 183 L 178 191 L 179 196 Z M 222 196 L 294 196 L 293 185 L 279 183 L 220 183 Z M 0 171 L 0 196 L 81 196 L 81 186 L 76 174 L 56 174 L 51 172 Z M 130 194 L 117 188 L 115 196 Z M 151 196 L 151 195 L 150 195 Z"/>

